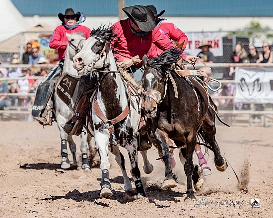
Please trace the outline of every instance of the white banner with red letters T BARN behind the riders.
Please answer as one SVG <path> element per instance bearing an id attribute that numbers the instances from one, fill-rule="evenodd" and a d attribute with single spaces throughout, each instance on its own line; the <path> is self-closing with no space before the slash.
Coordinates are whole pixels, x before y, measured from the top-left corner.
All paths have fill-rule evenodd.
<path id="1" fill-rule="evenodd" d="M 197 55 L 202 49 L 198 48 L 203 40 L 211 44 L 209 50 L 216 56 L 223 56 L 223 38 L 221 32 L 185 33 L 189 39 L 185 52 Z"/>

